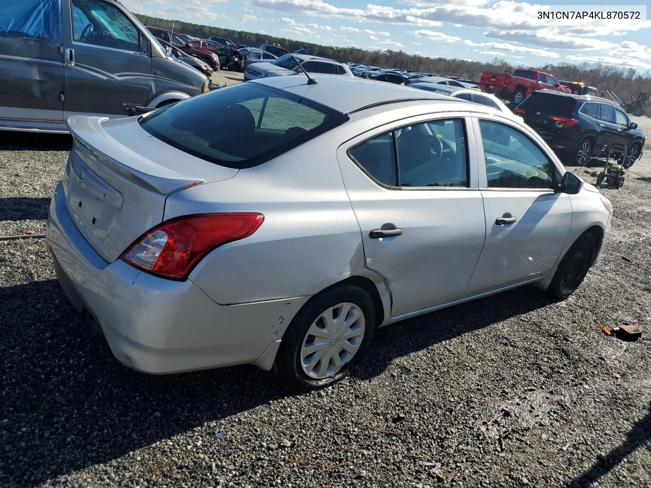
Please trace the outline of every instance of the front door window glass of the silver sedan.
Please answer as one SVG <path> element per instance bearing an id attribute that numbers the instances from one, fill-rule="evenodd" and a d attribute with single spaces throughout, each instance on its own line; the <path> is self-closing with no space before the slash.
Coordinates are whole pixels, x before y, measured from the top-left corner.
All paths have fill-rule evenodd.
<path id="1" fill-rule="evenodd" d="M 555 167 L 519 130 L 480 120 L 489 188 L 551 189 Z"/>

